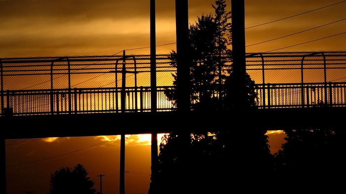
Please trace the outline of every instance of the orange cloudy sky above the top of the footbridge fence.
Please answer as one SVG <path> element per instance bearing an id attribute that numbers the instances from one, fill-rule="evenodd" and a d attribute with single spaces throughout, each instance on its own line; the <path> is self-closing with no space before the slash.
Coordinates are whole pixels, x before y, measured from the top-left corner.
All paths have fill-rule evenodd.
<path id="1" fill-rule="evenodd" d="M 175 49 L 174 2 L 156 0 L 156 45 L 166 45 L 157 53 Z M 214 13 L 215 0 L 188 3 L 192 24 L 202 13 Z M 342 0 L 245 0 L 246 51 L 345 50 L 345 10 Z M 149 54 L 149 16 L 150 0 L 0 0 L 0 58 L 124 49 Z"/>

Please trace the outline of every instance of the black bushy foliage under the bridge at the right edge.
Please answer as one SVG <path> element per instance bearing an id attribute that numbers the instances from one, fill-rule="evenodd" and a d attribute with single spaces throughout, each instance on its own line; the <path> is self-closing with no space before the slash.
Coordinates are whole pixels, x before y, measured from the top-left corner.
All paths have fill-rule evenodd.
<path id="1" fill-rule="evenodd" d="M 275 170 L 280 175 L 280 180 L 293 188 L 319 192 L 321 189 L 332 192 L 344 185 L 345 129 L 300 129 L 285 132 L 287 143 L 275 154 Z"/>

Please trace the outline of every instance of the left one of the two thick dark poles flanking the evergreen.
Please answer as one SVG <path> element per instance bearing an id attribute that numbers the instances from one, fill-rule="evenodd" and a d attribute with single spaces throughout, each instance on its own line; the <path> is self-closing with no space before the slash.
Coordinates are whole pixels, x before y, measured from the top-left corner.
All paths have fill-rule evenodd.
<path id="1" fill-rule="evenodd" d="M 189 22 L 188 22 L 188 0 L 175 0 L 175 24 L 176 24 L 176 105 L 178 117 L 177 119 L 183 120 L 184 115 L 190 111 L 190 60 L 189 60 Z M 191 193 L 191 187 L 188 184 L 188 176 L 184 176 L 190 170 L 189 160 L 189 145 L 191 143 L 190 131 L 184 127 L 185 122 L 179 122 L 181 125 L 176 127 L 185 129 L 179 132 L 182 138 L 177 149 L 180 152 L 181 168 L 179 173 L 182 174 L 181 186 L 186 188 L 185 193 Z"/>

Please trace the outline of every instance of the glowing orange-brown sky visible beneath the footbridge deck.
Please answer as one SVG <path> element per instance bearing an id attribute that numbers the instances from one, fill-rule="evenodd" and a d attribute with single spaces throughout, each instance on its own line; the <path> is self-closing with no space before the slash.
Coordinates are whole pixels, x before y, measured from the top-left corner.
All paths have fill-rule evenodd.
<path id="1" fill-rule="evenodd" d="M 150 184 L 151 135 L 127 135 L 125 158 L 125 191 L 147 194 Z M 158 141 L 162 134 L 158 134 Z M 285 134 L 268 133 L 271 151 L 280 149 Z M 61 167 L 83 164 L 88 176 L 103 194 L 119 194 L 120 136 L 72 137 L 6 140 L 7 194 L 47 194 L 50 174 Z"/>

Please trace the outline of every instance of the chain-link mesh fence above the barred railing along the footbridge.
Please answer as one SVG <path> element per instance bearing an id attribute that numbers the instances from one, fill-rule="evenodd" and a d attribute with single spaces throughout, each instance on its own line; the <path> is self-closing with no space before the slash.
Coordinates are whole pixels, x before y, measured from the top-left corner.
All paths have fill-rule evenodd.
<path id="1" fill-rule="evenodd" d="M 231 65 L 231 58 L 226 59 Z M 44 90 L 150 86 L 150 55 L 2 58 L 1 89 Z M 156 57 L 156 85 L 172 86 L 169 54 Z M 247 53 L 256 84 L 346 81 L 346 52 Z M 124 73 L 125 71 L 125 73 Z M 124 78 L 124 77 L 125 78 Z"/>

